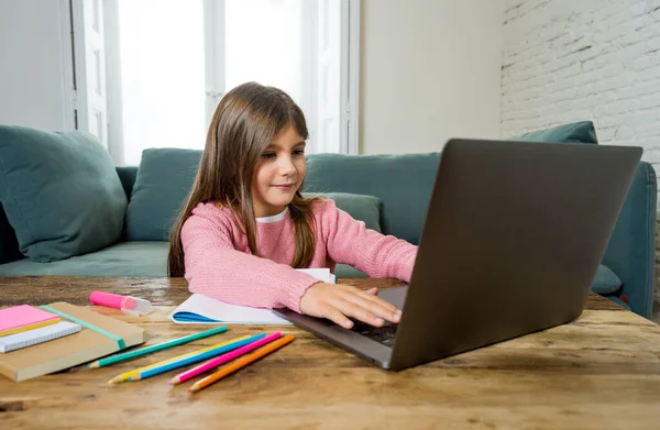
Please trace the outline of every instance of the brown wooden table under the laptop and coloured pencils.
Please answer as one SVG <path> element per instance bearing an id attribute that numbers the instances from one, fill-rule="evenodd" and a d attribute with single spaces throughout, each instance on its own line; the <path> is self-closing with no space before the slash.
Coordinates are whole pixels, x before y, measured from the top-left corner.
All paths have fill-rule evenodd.
<path id="1" fill-rule="evenodd" d="M 383 283 L 344 282 L 365 288 Z M 151 344 L 200 329 L 166 320 L 188 296 L 186 288 L 178 278 L 4 277 L 0 305 L 85 306 L 95 289 L 136 295 L 156 311 L 131 318 L 94 309 L 144 327 Z M 217 337 L 100 370 L 79 366 L 22 383 L 0 376 L 0 429 L 660 427 L 660 328 L 595 295 L 574 323 L 399 373 L 293 327 L 231 326 L 228 334 L 275 329 L 296 340 L 195 395 L 186 392 L 188 384 L 166 384 L 174 373 L 120 385 L 107 381 L 217 343 Z"/>

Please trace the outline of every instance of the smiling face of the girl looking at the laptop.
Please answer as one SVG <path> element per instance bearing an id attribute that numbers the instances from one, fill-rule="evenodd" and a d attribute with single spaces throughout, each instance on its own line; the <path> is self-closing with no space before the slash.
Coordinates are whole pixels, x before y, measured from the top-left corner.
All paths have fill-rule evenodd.
<path id="1" fill-rule="evenodd" d="M 282 212 L 294 199 L 306 173 L 305 140 L 288 125 L 273 139 L 254 169 L 254 216 L 272 217 Z"/>

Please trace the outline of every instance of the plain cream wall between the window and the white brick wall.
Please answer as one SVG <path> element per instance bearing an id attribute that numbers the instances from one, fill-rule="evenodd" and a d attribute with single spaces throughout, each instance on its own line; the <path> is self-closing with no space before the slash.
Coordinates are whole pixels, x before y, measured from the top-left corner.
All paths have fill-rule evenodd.
<path id="1" fill-rule="evenodd" d="M 362 0 L 360 152 L 498 137 L 502 0 Z"/>

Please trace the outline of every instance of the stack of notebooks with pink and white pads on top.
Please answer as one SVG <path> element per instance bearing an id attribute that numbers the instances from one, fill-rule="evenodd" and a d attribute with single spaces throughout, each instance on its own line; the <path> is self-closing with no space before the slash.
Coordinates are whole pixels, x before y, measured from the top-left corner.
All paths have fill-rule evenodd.
<path id="1" fill-rule="evenodd" d="M 0 309 L 0 374 L 14 381 L 140 343 L 144 343 L 143 329 L 66 302 Z"/>

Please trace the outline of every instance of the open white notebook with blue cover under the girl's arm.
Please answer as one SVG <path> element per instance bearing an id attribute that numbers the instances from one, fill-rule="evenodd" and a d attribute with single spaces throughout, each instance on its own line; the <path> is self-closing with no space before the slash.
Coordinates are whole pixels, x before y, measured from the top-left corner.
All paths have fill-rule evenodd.
<path id="1" fill-rule="evenodd" d="M 298 268 L 317 279 L 334 284 L 336 277 L 329 268 Z M 201 294 L 194 294 L 180 304 L 169 319 L 177 324 L 290 324 L 289 321 L 277 317 L 271 309 L 251 308 L 226 304 Z"/>

